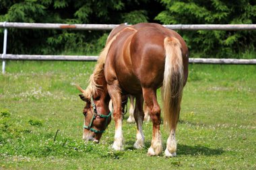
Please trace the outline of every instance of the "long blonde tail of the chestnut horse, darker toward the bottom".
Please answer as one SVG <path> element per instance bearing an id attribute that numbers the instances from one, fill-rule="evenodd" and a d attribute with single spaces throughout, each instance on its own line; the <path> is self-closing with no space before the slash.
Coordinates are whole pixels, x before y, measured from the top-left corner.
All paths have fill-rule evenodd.
<path id="1" fill-rule="evenodd" d="M 183 58 L 181 43 L 177 38 L 164 38 L 165 67 L 162 87 L 164 110 L 164 126 L 166 129 L 176 129 L 181 110 L 183 93 Z"/>

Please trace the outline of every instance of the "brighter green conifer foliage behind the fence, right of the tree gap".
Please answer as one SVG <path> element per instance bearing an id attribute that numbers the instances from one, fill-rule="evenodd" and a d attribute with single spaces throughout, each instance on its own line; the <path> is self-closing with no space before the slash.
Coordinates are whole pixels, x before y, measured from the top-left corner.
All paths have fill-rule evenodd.
<path id="1" fill-rule="evenodd" d="M 255 24 L 256 3 L 250 0 L 184 0 L 161 3 L 166 10 L 156 19 L 163 24 Z M 238 57 L 237 52 L 245 52 L 256 44 L 255 31 L 197 31 L 181 32 L 190 50 L 203 57 Z"/>

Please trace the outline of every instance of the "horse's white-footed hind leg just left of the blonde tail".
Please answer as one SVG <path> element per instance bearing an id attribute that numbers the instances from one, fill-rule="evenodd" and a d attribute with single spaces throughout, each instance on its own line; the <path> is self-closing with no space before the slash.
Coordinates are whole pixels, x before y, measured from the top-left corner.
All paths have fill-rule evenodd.
<path id="1" fill-rule="evenodd" d="M 143 88 L 143 97 L 150 109 L 150 117 L 153 123 L 153 133 L 151 146 L 148 149 L 148 155 L 160 155 L 162 153 L 162 138 L 160 132 L 161 110 L 156 99 L 156 89 Z"/>

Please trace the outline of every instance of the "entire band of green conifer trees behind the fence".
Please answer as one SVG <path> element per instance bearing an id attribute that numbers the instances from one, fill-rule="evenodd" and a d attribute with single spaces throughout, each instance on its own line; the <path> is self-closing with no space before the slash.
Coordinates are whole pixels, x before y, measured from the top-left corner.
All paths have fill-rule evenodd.
<path id="1" fill-rule="evenodd" d="M 255 24 L 250 0 L 0 0 L 0 22 Z M 255 58 L 256 31 L 179 31 L 191 57 Z M 9 29 L 9 54 L 98 54 L 108 31 Z M 2 46 L 3 29 L 0 30 Z"/>

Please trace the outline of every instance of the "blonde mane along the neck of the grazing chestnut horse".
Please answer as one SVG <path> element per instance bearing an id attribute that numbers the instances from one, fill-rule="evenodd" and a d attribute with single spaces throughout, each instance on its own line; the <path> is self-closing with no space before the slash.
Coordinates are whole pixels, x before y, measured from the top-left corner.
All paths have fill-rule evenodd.
<path id="1" fill-rule="evenodd" d="M 130 27 L 124 28 L 123 30 L 118 32 L 115 36 L 113 36 L 113 38 L 108 42 L 108 44 L 106 44 L 105 48 L 102 50 L 102 52 L 100 52 L 100 56 L 98 57 L 97 64 L 94 68 L 94 72 L 90 76 L 89 85 L 86 88 L 86 90 L 83 91 L 83 94 L 86 98 L 90 99 L 92 95 L 97 93 L 98 87 L 101 86 L 101 85 L 98 85 L 96 81 L 100 77 L 100 74 L 102 73 L 102 71 L 104 71 L 104 64 L 105 64 L 106 56 L 108 55 L 109 48 L 111 44 L 116 40 L 117 36 L 119 36 L 119 34 L 121 34 L 121 32 L 123 32 L 124 30 L 132 30 L 134 32 L 137 32 L 137 30 L 135 30 L 134 28 L 130 28 Z"/>

